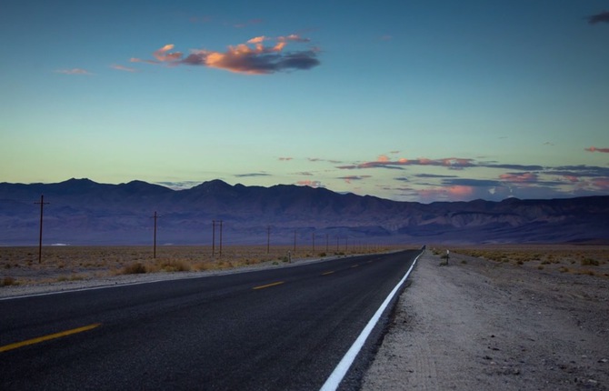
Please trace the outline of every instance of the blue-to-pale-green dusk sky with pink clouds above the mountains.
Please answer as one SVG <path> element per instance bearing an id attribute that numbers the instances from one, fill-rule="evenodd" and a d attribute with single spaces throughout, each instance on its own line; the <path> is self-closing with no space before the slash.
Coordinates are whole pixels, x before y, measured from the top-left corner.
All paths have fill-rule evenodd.
<path id="1" fill-rule="evenodd" d="M 0 182 L 609 194 L 609 0 L 4 0 Z"/>

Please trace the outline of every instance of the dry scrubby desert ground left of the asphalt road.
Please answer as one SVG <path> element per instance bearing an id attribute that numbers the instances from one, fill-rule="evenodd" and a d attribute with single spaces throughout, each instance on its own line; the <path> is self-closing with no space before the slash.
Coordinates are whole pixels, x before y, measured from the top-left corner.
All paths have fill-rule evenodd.
<path id="1" fill-rule="evenodd" d="M 398 249 L 395 246 L 0 246 L 0 296 L 2 287 L 54 286 L 70 282 L 95 284 L 95 280 L 121 280 L 121 276 L 154 275 L 162 279 L 181 272 L 202 273 L 244 267 L 282 266 L 291 262 L 333 256 L 369 254 Z M 176 276 L 177 274 L 177 276 Z M 125 278 L 122 278 L 125 279 Z M 6 294 L 6 289 L 5 292 Z"/>

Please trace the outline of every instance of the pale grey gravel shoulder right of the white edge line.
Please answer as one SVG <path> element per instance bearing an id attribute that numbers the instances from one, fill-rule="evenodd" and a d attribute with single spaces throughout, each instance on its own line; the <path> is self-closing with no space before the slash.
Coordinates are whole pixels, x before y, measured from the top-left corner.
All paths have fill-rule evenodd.
<path id="1" fill-rule="evenodd" d="M 362 389 L 609 390 L 609 279 L 427 252 Z"/>

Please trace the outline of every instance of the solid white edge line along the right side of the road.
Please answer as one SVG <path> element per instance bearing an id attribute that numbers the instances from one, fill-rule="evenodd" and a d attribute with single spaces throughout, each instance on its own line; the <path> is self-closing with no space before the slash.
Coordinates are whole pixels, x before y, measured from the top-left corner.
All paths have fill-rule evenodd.
<path id="1" fill-rule="evenodd" d="M 334 368 L 334 371 L 327 378 L 327 380 L 324 383 L 324 386 L 322 386 L 320 388 L 320 391 L 334 391 L 334 390 L 338 389 L 338 386 L 341 384 L 344 376 L 346 375 L 347 371 L 353 364 L 355 357 L 360 352 L 360 350 L 362 350 L 362 346 L 364 346 L 365 340 L 368 338 L 368 336 L 370 336 L 370 333 L 372 333 L 374 326 L 376 326 L 376 323 L 380 319 L 385 308 L 387 306 L 389 306 L 389 303 L 394 298 L 395 293 L 397 293 L 400 286 L 402 286 L 402 284 L 404 284 L 404 281 L 406 281 L 406 278 L 408 278 L 408 276 L 410 275 L 410 272 L 413 271 L 414 265 L 416 264 L 416 261 L 419 259 L 419 256 L 422 256 L 422 255 L 423 255 L 423 252 L 421 252 L 421 254 L 416 256 L 416 258 L 414 258 L 413 265 L 410 266 L 410 268 L 406 272 L 405 276 L 400 280 L 399 283 L 397 283 L 397 285 L 394 287 L 394 290 L 392 290 L 389 293 L 389 296 L 387 296 L 384 299 L 383 304 L 376 310 L 376 313 L 374 313 L 374 316 L 372 316 L 372 318 L 370 319 L 368 324 L 364 327 L 364 330 L 362 330 L 362 333 L 357 337 L 357 339 L 355 339 L 354 344 L 344 354 L 343 359 Z"/>

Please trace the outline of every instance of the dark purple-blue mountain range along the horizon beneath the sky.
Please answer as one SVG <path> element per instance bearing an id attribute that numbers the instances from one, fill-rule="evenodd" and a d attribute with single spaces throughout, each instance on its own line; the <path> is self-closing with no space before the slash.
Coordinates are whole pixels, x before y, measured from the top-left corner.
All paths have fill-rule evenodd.
<path id="1" fill-rule="evenodd" d="M 45 244 L 208 245 L 212 220 L 225 244 L 354 240 L 365 243 L 608 242 L 609 195 L 502 202 L 396 202 L 297 185 L 271 187 L 205 182 L 172 190 L 142 181 L 98 184 L 0 184 L 0 245 L 35 245 L 45 195 Z M 348 239 L 347 239 L 348 238 Z"/>

